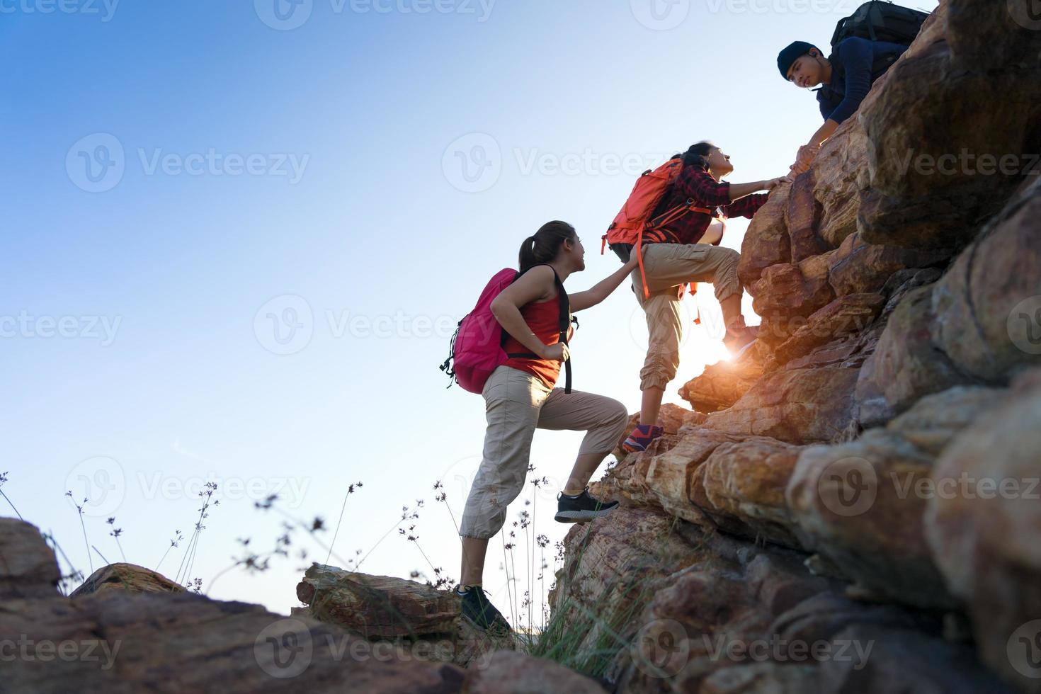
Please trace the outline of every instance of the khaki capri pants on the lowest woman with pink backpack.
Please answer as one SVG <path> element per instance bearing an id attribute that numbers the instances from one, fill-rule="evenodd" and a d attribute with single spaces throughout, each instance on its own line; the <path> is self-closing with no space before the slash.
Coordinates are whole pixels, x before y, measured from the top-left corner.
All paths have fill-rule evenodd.
<path id="1" fill-rule="evenodd" d="M 538 377 L 500 366 L 484 396 L 488 429 L 477 478 L 466 497 L 459 535 L 488 539 L 506 522 L 506 508 L 524 489 L 536 429 L 586 431 L 579 455 L 614 451 L 629 421 L 616 400 L 550 388 Z"/>

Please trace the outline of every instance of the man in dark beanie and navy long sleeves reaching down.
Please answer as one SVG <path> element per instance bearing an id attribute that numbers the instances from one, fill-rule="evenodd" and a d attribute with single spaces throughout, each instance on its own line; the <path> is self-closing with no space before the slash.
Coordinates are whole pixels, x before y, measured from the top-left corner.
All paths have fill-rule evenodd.
<path id="1" fill-rule="evenodd" d="M 827 58 L 816 46 L 803 41 L 781 51 L 778 69 L 782 77 L 804 88 L 822 85 L 817 92 L 817 101 L 824 124 L 813 133 L 810 142 L 798 148 L 793 174 L 810 168 L 821 143 L 857 112 L 874 80 L 882 77 L 907 49 L 900 44 L 849 37 L 839 42 Z"/>

